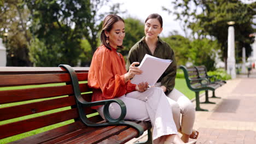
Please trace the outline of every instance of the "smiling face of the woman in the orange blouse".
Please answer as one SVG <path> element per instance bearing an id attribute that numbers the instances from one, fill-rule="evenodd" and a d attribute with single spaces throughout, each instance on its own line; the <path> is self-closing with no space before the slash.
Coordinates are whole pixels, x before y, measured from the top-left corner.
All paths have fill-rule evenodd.
<path id="1" fill-rule="evenodd" d="M 105 31 L 106 37 L 108 37 L 109 45 L 117 49 L 117 46 L 123 45 L 125 37 L 125 25 L 123 21 L 118 21 L 113 24 L 112 29 L 108 32 Z"/>

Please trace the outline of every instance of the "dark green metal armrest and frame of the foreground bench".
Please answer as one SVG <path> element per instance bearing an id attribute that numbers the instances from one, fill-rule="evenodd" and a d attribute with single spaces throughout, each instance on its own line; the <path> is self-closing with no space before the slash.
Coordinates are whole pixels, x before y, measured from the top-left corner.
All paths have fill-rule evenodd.
<path id="1" fill-rule="evenodd" d="M 144 129 L 142 128 L 141 125 L 137 123 L 129 122 L 129 121 L 124 121 L 124 118 L 126 115 L 126 106 L 122 100 L 109 99 L 109 100 L 101 100 L 101 101 L 94 101 L 94 102 L 88 102 L 84 100 L 83 97 L 81 96 L 77 74 L 75 73 L 74 69 L 67 64 L 61 64 L 59 65 L 59 67 L 65 68 L 68 71 L 69 75 L 71 76 L 71 82 L 72 82 L 72 87 L 75 95 L 75 101 L 78 107 L 79 118 L 84 124 L 88 125 L 89 127 L 101 127 L 101 126 L 109 126 L 109 125 L 127 125 L 132 128 L 135 128 L 138 131 L 138 135 L 136 137 L 139 137 L 144 133 Z M 111 103 L 117 103 L 121 107 L 121 115 L 117 119 L 113 119 L 110 116 L 109 105 Z M 103 113 L 104 113 L 104 117 L 107 120 L 106 123 L 92 123 L 89 121 L 89 119 L 86 116 L 84 107 L 91 107 L 91 106 L 98 106 L 98 105 L 104 105 Z"/>

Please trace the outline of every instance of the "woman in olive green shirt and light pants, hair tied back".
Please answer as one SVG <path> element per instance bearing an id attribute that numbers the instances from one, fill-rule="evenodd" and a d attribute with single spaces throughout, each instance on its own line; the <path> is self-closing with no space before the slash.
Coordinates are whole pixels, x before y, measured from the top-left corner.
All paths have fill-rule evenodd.
<path id="1" fill-rule="evenodd" d="M 151 14 L 145 21 L 144 36 L 135 45 L 132 46 L 127 57 L 126 68 L 133 62 L 141 62 L 144 55 L 152 55 L 162 59 L 172 59 L 172 63 L 161 75 L 155 86 L 161 87 L 168 98 L 172 99 L 173 119 L 177 130 L 183 134 L 184 142 L 196 139 L 199 132 L 193 130 L 195 121 L 195 108 L 191 101 L 181 92 L 174 88 L 177 64 L 174 52 L 171 47 L 162 41 L 158 35 L 162 32 L 162 17 L 159 14 Z M 182 113 L 182 119 L 180 115 Z"/>

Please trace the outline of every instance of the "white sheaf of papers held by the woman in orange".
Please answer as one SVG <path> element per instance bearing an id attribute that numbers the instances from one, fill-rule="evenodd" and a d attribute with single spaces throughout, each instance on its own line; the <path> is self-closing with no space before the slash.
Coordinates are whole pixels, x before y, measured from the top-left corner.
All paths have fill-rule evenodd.
<path id="1" fill-rule="evenodd" d="M 141 82 L 148 82 L 149 86 L 154 86 L 171 62 L 171 59 L 161 59 L 146 54 L 138 66 L 142 74 L 135 75 L 131 83 L 138 85 Z"/>

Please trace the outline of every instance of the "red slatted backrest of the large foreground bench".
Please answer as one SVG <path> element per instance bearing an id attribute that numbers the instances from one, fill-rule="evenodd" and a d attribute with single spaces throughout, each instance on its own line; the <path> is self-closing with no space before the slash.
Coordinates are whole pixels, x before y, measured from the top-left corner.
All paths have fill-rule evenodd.
<path id="1" fill-rule="evenodd" d="M 91 101 L 89 68 L 75 68 L 82 97 Z M 0 67 L 0 139 L 78 120 L 71 79 L 63 68 Z M 47 84 L 47 85 L 45 85 Z M 95 113 L 90 107 L 86 114 Z M 92 117 L 102 121 L 100 116 Z"/>

